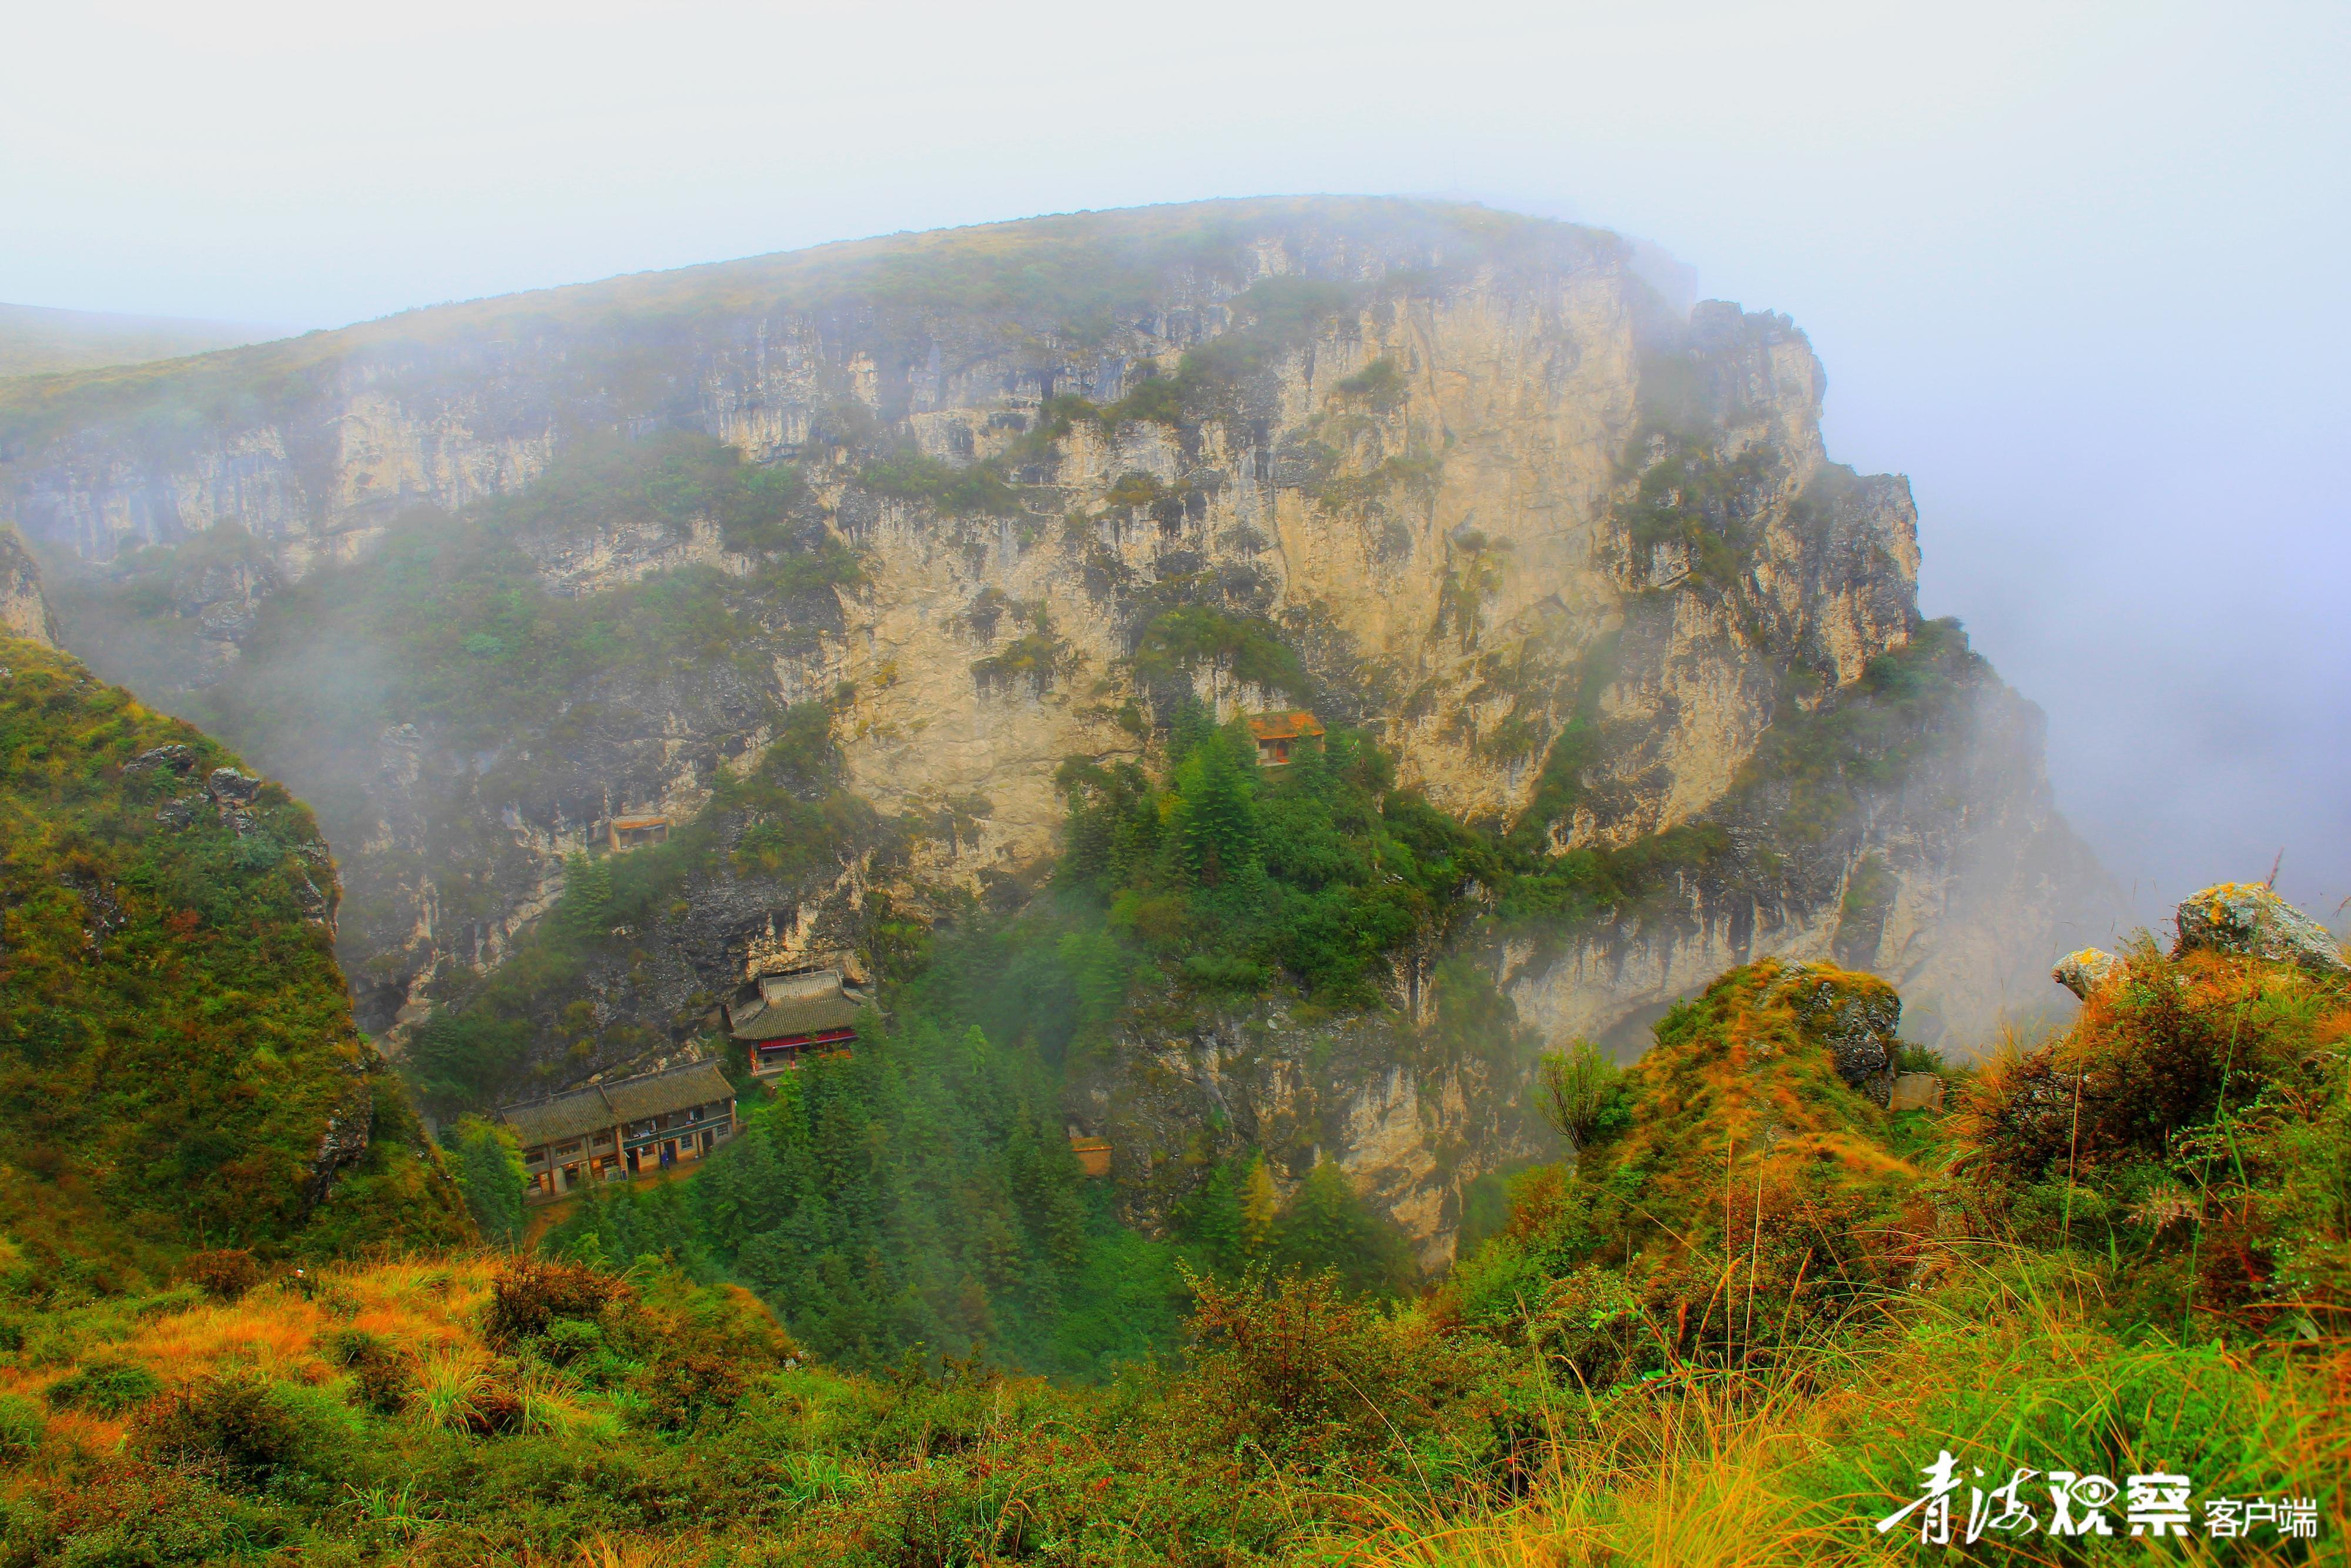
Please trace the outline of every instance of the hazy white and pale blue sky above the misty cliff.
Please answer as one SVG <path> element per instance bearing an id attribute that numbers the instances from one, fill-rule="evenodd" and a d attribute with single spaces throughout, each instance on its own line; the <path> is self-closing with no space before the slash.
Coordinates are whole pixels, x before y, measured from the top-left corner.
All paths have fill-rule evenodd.
<path id="1" fill-rule="evenodd" d="M 2125 884 L 2351 893 L 2351 5 L 9 7 L 0 301 L 341 324 L 1204 195 L 1791 313 Z"/>

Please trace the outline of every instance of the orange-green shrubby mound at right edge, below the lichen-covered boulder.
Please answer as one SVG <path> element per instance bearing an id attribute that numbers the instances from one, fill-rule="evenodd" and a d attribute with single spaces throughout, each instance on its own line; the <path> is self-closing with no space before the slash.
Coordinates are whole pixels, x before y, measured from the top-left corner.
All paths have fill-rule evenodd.
<path id="1" fill-rule="evenodd" d="M 1965 1192 L 2034 1248 L 2128 1262 L 2130 1321 L 2351 1333 L 2351 987 L 2142 940 L 2071 1030 L 1958 1110 Z"/>

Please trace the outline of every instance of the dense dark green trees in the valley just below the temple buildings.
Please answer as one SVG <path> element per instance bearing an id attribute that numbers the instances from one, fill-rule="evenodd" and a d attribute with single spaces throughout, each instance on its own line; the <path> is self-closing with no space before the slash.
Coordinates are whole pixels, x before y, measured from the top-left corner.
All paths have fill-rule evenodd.
<path id="1" fill-rule="evenodd" d="M 1126 1225 L 1070 1152 L 1067 1020 L 1039 1006 L 1056 954 L 1030 945 L 1037 931 L 950 933 L 889 1018 L 868 1013 L 853 1053 L 745 1084 L 743 1135 L 694 1180 L 590 1194 L 543 1246 L 748 1286 L 837 1366 L 983 1356 L 1089 1380 L 1176 1347 L 1187 1269 L 1338 1269 L 1349 1295 L 1413 1281 L 1396 1227 L 1335 1166 L 1284 1199 L 1262 1157 L 1239 1154 L 1164 1239 Z M 1006 954 L 1027 973 L 1006 980 Z"/>

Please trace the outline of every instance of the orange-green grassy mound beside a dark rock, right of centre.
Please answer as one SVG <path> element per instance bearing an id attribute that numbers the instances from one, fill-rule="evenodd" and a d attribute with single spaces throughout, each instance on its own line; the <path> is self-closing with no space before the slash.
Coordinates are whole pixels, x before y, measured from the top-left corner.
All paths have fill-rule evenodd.
<path id="1" fill-rule="evenodd" d="M 1674 1006 L 1594 1105 L 1573 1166 L 1523 1178 L 1512 1229 L 1455 1274 L 1462 1319 L 1620 1382 L 1749 1363 L 1900 1291 L 1935 1229 L 1923 1173 L 1829 1041 L 1890 994 L 1763 959 Z M 1754 1300 L 1761 1331 L 1742 1312 Z"/>

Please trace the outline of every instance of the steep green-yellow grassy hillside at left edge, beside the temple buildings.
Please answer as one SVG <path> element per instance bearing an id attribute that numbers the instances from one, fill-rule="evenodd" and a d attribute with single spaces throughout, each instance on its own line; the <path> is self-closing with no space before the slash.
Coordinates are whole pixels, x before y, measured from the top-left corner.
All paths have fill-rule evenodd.
<path id="1" fill-rule="evenodd" d="M 73 658 L 0 668 L 0 1229 L 115 1286 L 463 1239 L 350 1025 L 310 811 Z"/>

